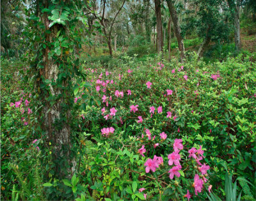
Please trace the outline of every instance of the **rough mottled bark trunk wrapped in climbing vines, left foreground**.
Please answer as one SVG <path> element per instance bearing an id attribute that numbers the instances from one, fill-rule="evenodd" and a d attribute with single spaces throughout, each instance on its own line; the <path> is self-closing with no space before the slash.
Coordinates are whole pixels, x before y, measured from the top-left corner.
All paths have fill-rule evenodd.
<path id="1" fill-rule="evenodd" d="M 49 1 L 44 1 L 44 8 L 48 8 Z M 47 30 L 49 30 L 49 19 L 47 16 L 47 12 L 41 15 L 41 20 L 44 23 Z M 54 24 L 51 27 L 51 33 L 45 33 L 45 42 L 47 44 L 53 43 L 56 38 L 56 34 L 61 30 L 61 25 Z M 64 29 L 66 27 L 63 27 Z M 44 68 L 39 68 L 39 77 L 40 80 L 36 83 L 36 89 L 40 89 L 40 100 L 44 104 L 41 110 L 41 118 L 44 119 L 42 121 L 42 130 L 45 131 L 45 135 L 48 141 L 52 141 L 54 145 L 53 150 L 53 158 L 56 162 L 56 174 L 60 177 L 67 176 L 67 172 L 70 172 L 69 165 L 72 162 L 76 163 L 74 160 L 70 158 L 70 149 L 72 144 L 70 142 L 70 107 L 63 107 L 63 103 L 67 103 L 70 98 L 72 98 L 72 92 L 68 92 L 58 85 L 52 85 L 51 83 L 58 83 L 58 75 L 59 75 L 59 63 L 54 60 L 52 57 L 49 57 L 50 49 L 48 46 L 44 48 L 43 52 L 43 65 Z M 51 82 L 47 84 L 49 86 L 49 90 L 46 90 L 45 80 L 50 80 Z M 62 86 L 66 88 L 68 85 L 67 80 L 63 80 Z M 65 96 L 60 96 L 61 94 L 65 94 Z M 55 97 L 53 101 L 51 97 Z M 60 98 L 58 98 L 60 97 Z M 49 100 L 50 99 L 50 100 Z M 68 164 L 67 164 L 68 163 Z M 63 168 L 66 167 L 66 168 Z"/>

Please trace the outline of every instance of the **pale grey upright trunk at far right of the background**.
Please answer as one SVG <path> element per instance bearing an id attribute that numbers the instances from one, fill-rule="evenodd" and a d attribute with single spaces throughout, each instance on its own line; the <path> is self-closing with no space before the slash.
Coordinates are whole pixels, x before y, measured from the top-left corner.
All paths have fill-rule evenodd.
<path id="1" fill-rule="evenodd" d="M 237 0 L 237 4 L 235 6 L 235 44 L 237 52 L 241 50 L 241 38 L 240 38 L 240 1 Z"/>

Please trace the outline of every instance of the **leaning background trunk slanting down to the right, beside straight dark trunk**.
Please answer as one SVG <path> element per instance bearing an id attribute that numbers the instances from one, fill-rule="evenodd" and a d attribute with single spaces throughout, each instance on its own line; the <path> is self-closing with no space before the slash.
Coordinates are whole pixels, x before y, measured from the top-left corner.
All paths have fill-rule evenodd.
<path id="1" fill-rule="evenodd" d="M 170 11 L 170 15 L 172 17 L 172 22 L 173 22 L 173 29 L 174 29 L 174 33 L 175 36 L 177 38 L 178 41 L 178 45 L 179 45 L 179 50 L 180 50 L 180 61 L 181 63 L 183 63 L 183 59 L 185 59 L 185 47 L 184 47 L 184 43 L 182 40 L 182 36 L 180 34 L 180 24 L 179 24 L 179 20 L 177 17 L 177 12 L 174 8 L 173 2 L 172 0 L 166 0 L 169 11 Z"/>

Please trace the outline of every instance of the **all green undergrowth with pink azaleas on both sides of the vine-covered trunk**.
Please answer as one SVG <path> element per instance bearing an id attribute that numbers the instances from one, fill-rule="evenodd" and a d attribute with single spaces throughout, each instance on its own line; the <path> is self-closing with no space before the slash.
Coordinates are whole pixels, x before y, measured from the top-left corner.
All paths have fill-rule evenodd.
<path id="1" fill-rule="evenodd" d="M 223 200 L 236 191 L 254 200 L 255 63 L 160 58 L 124 56 L 115 70 L 83 65 L 86 78 L 72 80 L 76 174 L 61 180 L 54 145 L 43 149 L 35 131 L 30 89 L 12 89 L 1 73 L 4 91 L 16 90 L 1 105 L 1 198 Z"/>

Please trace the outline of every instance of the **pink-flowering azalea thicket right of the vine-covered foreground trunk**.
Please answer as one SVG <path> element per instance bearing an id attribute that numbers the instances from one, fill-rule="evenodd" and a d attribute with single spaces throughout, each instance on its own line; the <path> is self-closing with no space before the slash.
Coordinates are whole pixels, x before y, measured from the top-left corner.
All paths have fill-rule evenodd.
<path id="1" fill-rule="evenodd" d="M 223 197 L 227 169 L 252 184 L 239 191 L 253 199 L 255 63 L 242 56 L 207 65 L 148 60 L 115 71 L 90 66 L 88 82 L 75 87 L 87 143 L 86 195 L 131 200 L 143 190 L 147 199 L 181 200 L 189 191 L 205 200 L 214 191 Z"/>

